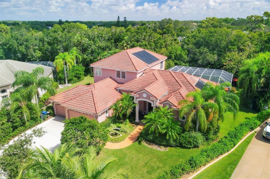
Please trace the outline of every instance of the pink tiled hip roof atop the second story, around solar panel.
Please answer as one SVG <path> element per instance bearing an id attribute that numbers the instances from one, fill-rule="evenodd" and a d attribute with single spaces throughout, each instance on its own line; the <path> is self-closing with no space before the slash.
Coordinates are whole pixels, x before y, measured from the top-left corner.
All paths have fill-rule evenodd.
<path id="1" fill-rule="evenodd" d="M 154 61 L 153 63 L 147 64 L 143 60 L 133 55 L 133 53 L 141 51 L 145 51 L 153 55 L 155 58 L 151 58 L 151 60 L 154 59 L 156 61 L 153 60 Z M 116 53 L 102 60 L 99 60 L 95 63 L 92 63 L 90 66 L 117 69 L 117 70 L 141 71 L 165 59 L 167 59 L 167 57 L 164 55 L 160 55 L 158 53 L 151 52 L 149 50 L 145 50 L 140 47 L 135 47 Z"/>

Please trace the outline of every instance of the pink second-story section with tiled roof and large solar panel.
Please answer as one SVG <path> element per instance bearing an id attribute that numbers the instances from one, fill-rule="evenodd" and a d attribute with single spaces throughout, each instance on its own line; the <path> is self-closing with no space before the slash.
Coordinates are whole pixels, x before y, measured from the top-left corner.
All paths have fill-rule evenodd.
<path id="1" fill-rule="evenodd" d="M 92 63 L 94 82 L 112 77 L 126 83 L 140 77 L 147 68 L 165 69 L 166 56 L 140 47 L 131 48 Z"/>

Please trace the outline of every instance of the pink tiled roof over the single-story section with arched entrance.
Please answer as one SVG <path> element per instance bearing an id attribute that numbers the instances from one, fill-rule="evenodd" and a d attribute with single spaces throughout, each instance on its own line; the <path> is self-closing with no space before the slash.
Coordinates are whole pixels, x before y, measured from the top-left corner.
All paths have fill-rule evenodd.
<path id="1" fill-rule="evenodd" d="M 131 80 L 118 88 L 133 91 L 131 95 L 139 96 L 140 91 L 147 91 L 153 99 L 159 100 L 157 105 L 170 102 L 173 108 L 178 108 L 178 102 L 186 99 L 188 92 L 198 89 L 195 84 L 201 78 L 186 73 L 146 69 L 144 75 Z M 201 79 L 204 82 L 208 80 Z"/>

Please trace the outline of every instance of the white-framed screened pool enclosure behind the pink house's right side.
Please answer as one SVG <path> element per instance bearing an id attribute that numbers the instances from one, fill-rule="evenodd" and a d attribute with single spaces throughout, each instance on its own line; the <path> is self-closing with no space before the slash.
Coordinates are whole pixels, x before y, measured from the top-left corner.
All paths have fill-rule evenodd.
<path id="1" fill-rule="evenodd" d="M 233 74 L 224 70 L 188 66 L 175 66 L 168 70 L 191 74 L 193 76 L 201 77 L 205 80 L 214 81 L 216 83 L 229 82 L 232 84 Z"/>

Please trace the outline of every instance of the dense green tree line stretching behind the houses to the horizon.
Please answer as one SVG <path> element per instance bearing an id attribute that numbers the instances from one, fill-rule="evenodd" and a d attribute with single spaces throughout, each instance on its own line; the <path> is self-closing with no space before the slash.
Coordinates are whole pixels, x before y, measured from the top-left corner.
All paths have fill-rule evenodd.
<path id="1" fill-rule="evenodd" d="M 85 72 L 90 73 L 91 63 L 123 49 L 140 46 L 168 56 L 167 68 L 173 65 L 217 68 L 238 77 L 244 60 L 255 58 L 259 52 L 270 51 L 269 12 L 246 19 L 207 17 L 197 23 L 171 19 L 152 22 L 117 19 L 108 21 L 107 27 L 100 26 L 102 23 L 97 21 L 73 23 L 61 19 L 59 22 L 34 21 L 19 25 L 4 22 L 8 26 L 0 25 L 0 59 L 54 61 L 59 53 L 76 47 L 81 56 L 80 63 Z M 133 26 L 135 24 L 137 26 Z M 45 28 L 48 26 L 53 27 Z"/>

